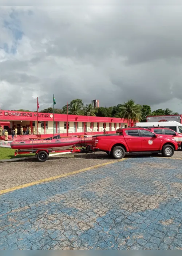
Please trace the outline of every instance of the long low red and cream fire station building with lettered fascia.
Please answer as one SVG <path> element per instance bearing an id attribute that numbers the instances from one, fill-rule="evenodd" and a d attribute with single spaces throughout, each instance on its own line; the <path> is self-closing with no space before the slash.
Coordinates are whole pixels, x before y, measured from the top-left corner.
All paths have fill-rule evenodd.
<path id="1" fill-rule="evenodd" d="M 38 113 L 38 133 L 39 137 L 45 137 L 53 134 L 66 135 L 67 133 L 67 115 L 66 114 Z M 0 125 L 3 129 L 17 127 L 18 133 L 20 127 L 31 126 L 35 127 L 35 134 L 37 134 L 37 112 L 19 112 L 19 111 L 0 111 Z M 75 116 L 68 115 L 68 133 L 70 135 L 82 135 L 103 133 L 104 128 L 106 132 L 114 133 L 116 129 L 128 127 L 129 123 L 123 118 L 114 117 L 96 117 L 96 116 Z M 131 126 L 134 125 L 131 123 Z M 53 128 L 54 127 L 54 128 Z"/>

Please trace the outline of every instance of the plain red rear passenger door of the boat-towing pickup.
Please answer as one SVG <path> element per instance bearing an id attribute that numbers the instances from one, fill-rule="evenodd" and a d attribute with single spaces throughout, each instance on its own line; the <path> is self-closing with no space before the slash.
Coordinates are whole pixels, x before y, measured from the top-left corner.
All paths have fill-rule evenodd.
<path id="1" fill-rule="evenodd" d="M 128 145 L 129 151 L 141 151 L 142 139 L 137 129 L 128 129 L 124 132 L 124 138 Z"/>

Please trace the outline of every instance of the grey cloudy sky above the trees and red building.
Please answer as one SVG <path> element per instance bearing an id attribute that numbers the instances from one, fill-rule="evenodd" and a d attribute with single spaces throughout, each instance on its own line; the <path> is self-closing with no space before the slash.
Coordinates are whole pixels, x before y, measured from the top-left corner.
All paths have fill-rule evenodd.
<path id="1" fill-rule="evenodd" d="M 182 113 L 182 4 L 124 2 L 1 6 L 1 109 L 48 108 L 54 94 L 57 108 L 132 98 Z"/>

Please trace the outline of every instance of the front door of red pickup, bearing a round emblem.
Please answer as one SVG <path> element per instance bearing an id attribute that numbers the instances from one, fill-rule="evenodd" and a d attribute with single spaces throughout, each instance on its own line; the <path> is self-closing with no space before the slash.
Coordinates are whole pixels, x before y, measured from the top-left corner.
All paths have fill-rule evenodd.
<path id="1" fill-rule="evenodd" d="M 154 133 L 147 131 L 147 130 L 141 130 L 142 135 L 142 151 L 158 151 L 161 145 L 161 139 L 155 138 Z"/>

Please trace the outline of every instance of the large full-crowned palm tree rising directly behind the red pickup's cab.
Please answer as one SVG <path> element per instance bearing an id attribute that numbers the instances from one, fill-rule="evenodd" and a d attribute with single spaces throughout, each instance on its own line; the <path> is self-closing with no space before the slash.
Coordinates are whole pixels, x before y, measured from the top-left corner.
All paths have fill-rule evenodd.
<path id="1" fill-rule="evenodd" d="M 124 106 L 120 107 L 121 118 L 127 119 L 130 122 L 131 127 L 131 121 L 139 121 L 142 118 L 141 113 L 141 106 L 138 104 L 135 104 L 133 99 L 128 100 L 127 102 L 124 102 Z"/>

